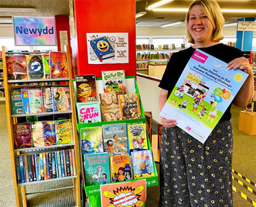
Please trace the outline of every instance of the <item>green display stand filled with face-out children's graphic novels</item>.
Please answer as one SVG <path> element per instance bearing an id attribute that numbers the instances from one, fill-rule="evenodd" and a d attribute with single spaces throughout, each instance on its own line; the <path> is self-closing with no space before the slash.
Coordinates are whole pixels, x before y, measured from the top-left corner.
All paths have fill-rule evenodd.
<path id="1" fill-rule="evenodd" d="M 120 74 L 122 78 L 117 78 Z M 147 187 L 158 185 L 135 78 L 125 77 L 122 70 L 102 71 L 102 78 L 78 75 L 74 89 L 82 181 L 89 206 L 101 205 L 100 185 L 106 183 L 146 179 Z"/>

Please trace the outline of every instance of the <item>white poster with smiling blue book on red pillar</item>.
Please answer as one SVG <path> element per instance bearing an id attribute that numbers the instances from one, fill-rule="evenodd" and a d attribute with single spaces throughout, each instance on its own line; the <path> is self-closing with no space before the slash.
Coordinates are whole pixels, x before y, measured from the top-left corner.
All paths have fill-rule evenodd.
<path id="1" fill-rule="evenodd" d="M 129 63 L 128 33 L 86 33 L 89 64 Z"/>

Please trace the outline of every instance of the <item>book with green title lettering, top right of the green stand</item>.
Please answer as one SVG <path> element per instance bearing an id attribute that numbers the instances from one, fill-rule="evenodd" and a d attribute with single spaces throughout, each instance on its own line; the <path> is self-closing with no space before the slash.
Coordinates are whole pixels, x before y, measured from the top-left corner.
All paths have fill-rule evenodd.
<path id="1" fill-rule="evenodd" d="M 101 71 L 104 93 L 122 91 L 126 94 L 124 70 Z"/>

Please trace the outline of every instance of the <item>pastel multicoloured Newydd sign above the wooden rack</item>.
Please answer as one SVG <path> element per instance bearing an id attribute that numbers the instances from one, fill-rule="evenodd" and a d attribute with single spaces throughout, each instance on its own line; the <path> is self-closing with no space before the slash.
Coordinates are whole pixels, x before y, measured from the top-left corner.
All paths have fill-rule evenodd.
<path id="1" fill-rule="evenodd" d="M 56 45 L 56 31 L 54 17 L 13 17 L 15 45 Z M 22 34 L 19 32 L 22 27 Z M 44 30 L 47 27 L 47 34 L 40 33 L 38 30 Z M 53 34 L 49 30 L 53 27 Z M 17 28 L 19 28 L 17 30 Z M 24 28 L 36 29 L 36 34 L 28 32 L 24 34 Z M 38 30 L 37 30 L 38 29 Z M 18 33 L 17 33 L 18 31 Z M 44 30 L 45 32 L 46 30 Z M 52 32 L 51 32 L 52 33 Z"/>

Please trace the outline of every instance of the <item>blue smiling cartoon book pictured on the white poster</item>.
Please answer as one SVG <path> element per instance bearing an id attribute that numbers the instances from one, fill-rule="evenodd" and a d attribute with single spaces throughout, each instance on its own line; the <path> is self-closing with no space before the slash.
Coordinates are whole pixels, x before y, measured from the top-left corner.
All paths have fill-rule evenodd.
<path id="1" fill-rule="evenodd" d="M 115 56 L 115 51 L 105 36 L 91 40 L 90 45 L 101 62 Z"/>

